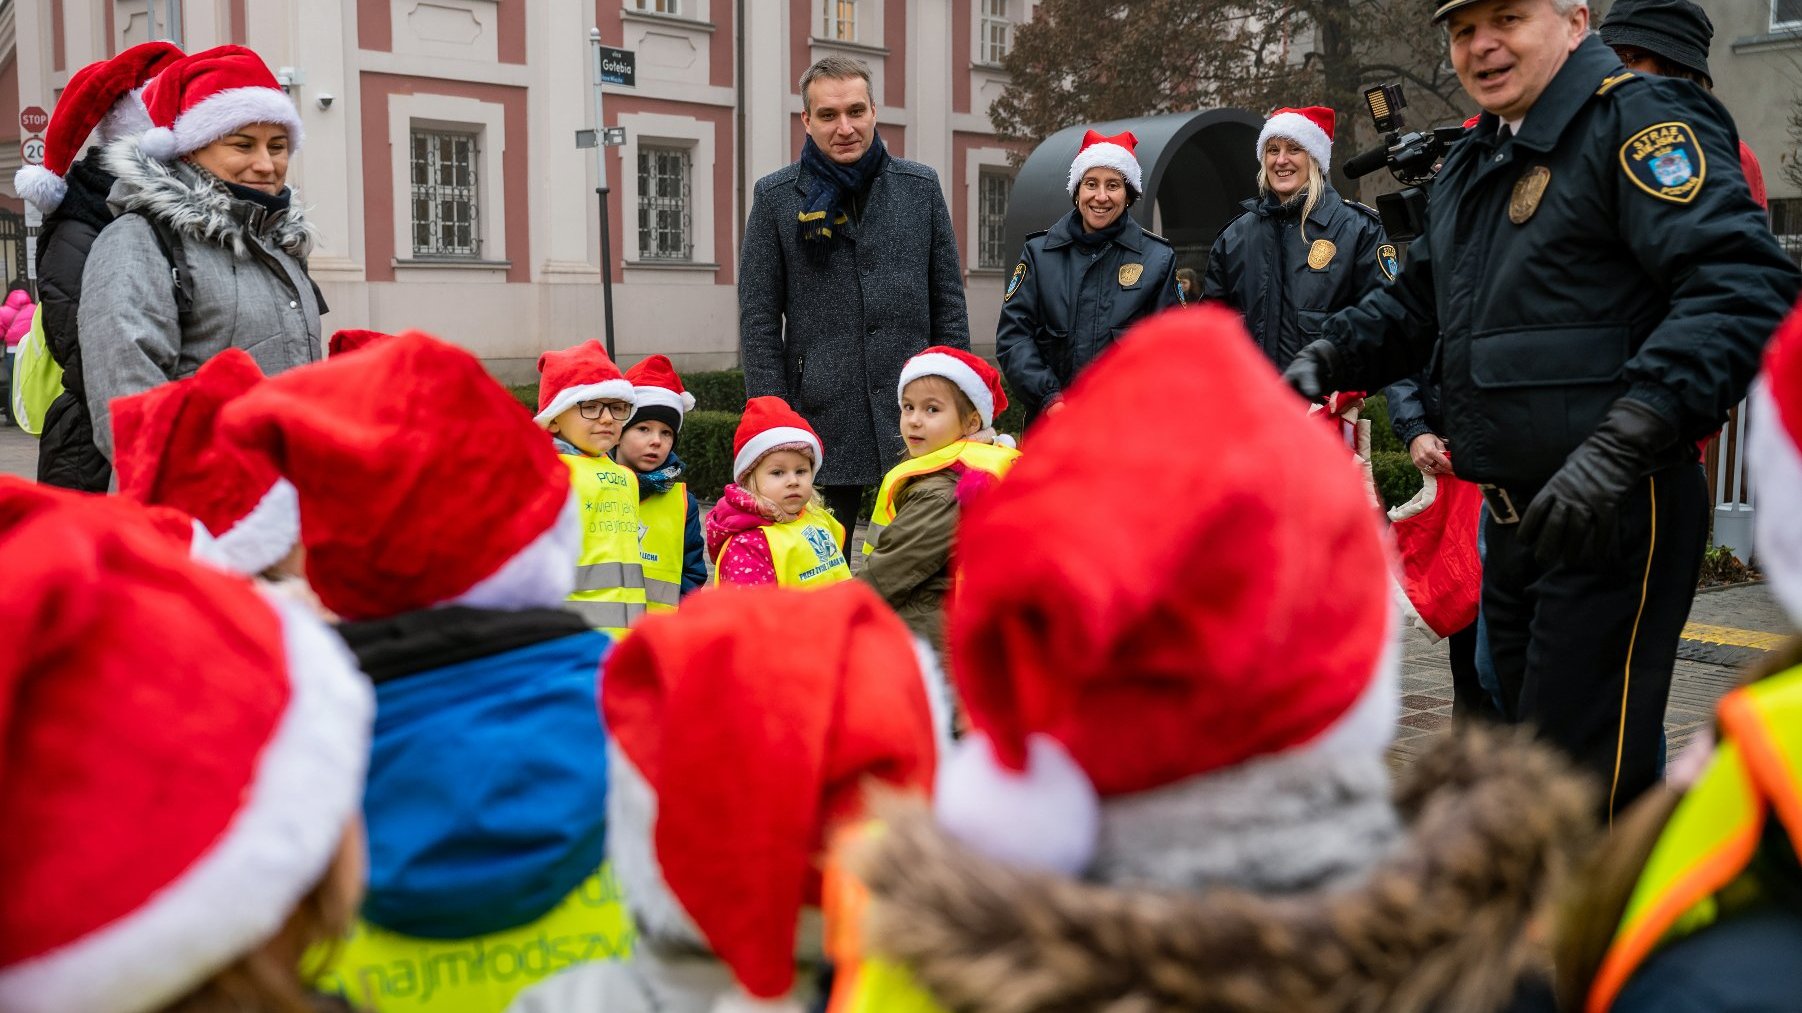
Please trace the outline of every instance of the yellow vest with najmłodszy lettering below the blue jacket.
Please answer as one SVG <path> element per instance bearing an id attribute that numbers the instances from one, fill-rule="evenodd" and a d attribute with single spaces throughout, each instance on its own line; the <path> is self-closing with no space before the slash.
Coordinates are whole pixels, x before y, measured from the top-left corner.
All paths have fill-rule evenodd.
<path id="1" fill-rule="evenodd" d="M 474 939 L 420 939 L 359 919 L 317 984 L 371 1013 L 501 1013 L 562 970 L 629 957 L 633 941 L 620 883 L 602 865 L 544 917 Z"/>

